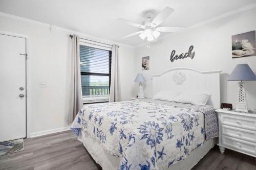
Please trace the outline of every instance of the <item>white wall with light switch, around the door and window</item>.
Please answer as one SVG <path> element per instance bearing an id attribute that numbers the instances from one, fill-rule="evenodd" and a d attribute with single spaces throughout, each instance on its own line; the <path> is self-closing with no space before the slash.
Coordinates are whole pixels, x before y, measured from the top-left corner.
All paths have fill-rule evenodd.
<path id="1" fill-rule="evenodd" d="M 72 31 L 28 19 L 0 15 L 0 31 L 28 35 L 28 113 L 31 132 L 48 131 L 68 126 L 70 100 L 70 60 Z M 74 33 L 74 32 L 73 32 Z M 87 38 L 88 36 L 80 35 Z M 92 38 L 91 38 L 92 39 Z M 97 40 L 94 38 L 94 40 Z M 114 43 L 108 42 L 107 43 Z M 130 81 L 134 79 L 132 47 L 119 44 L 121 96 L 131 96 Z M 39 82 L 48 87 L 40 88 Z"/>

